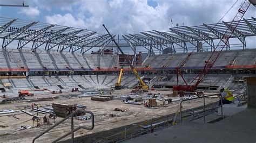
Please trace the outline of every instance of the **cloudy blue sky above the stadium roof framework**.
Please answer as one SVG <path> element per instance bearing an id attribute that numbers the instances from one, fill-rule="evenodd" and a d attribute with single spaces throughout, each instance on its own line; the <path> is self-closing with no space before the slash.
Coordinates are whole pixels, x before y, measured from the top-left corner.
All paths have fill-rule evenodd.
<path id="1" fill-rule="evenodd" d="M 236 2 L 236 3 L 235 3 Z M 230 21 L 242 0 L 24 0 L 29 8 L 0 7 L 0 16 L 50 24 L 87 28 L 113 34 L 168 31 L 176 24 L 195 26 Z M 22 0 L 1 0 L 0 4 L 22 4 Z M 245 18 L 256 16 L 253 6 Z M 171 24 L 171 20 L 173 24 Z"/>

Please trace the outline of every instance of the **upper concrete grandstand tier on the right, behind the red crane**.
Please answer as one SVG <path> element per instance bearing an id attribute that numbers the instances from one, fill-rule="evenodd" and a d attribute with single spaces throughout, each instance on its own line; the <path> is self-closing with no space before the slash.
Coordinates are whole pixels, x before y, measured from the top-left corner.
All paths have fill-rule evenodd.
<path id="1" fill-rule="evenodd" d="M 185 59 L 187 54 L 152 55 L 146 59 L 142 67 L 152 69 L 174 69 Z M 203 69 L 211 52 L 192 53 L 183 69 Z M 256 68 L 256 49 L 240 49 L 223 51 L 214 63 L 213 69 Z"/>

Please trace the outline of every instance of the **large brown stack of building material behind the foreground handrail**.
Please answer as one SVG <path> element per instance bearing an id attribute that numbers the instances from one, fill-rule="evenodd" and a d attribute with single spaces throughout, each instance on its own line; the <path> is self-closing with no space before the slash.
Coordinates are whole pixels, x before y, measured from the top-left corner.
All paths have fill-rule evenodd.
<path id="1" fill-rule="evenodd" d="M 57 116 L 66 117 L 70 115 L 72 112 L 75 112 L 77 109 L 76 104 L 68 105 L 61 103 L 52 103 L 53 111 Z"/>

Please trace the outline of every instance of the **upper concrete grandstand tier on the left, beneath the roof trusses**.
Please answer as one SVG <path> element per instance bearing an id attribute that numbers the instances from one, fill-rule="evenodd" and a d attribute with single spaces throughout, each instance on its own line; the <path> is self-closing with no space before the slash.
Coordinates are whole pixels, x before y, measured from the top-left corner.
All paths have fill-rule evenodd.
<path id="1" fill-rule="evenodd" d="M 2 49 L 0 71 L 91 71 L 119 67 L 118 56 Z"/>

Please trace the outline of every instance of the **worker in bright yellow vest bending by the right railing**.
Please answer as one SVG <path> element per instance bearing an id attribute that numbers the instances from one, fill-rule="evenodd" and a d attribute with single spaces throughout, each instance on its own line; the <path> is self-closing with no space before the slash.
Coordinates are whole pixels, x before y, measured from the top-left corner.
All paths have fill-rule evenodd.
<path id="1" fill-rule="evenodd" d="M 234 96 L 232 95 L 232 92 L 230 90 L 221 88 L 220 89 L 220 95 L 218 97 L 221 99 L 222 97 L 222 103 L 223 104 L 230 104 L 234 102 Z M 219 106 L 221 105 L 221 100 L 219 100 Z"/>

